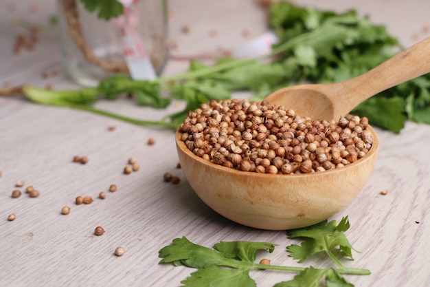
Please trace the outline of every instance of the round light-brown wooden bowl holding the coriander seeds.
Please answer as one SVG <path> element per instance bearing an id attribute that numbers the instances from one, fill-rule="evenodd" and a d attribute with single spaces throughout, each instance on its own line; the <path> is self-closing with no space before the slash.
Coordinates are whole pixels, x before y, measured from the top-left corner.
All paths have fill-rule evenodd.
<path id="1" fill-rule="evenodd" d="M 177 131 L 181 168 L 194 192 L 214 211 L 239 224 L 267 230 L 301 228 L 328 219 L 360 193 L 374 169 L 379 140 L 360 160 L 307 174 L 238 171 L 194 155 Z"/>

